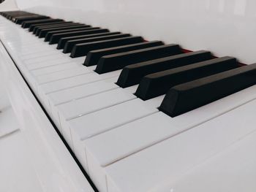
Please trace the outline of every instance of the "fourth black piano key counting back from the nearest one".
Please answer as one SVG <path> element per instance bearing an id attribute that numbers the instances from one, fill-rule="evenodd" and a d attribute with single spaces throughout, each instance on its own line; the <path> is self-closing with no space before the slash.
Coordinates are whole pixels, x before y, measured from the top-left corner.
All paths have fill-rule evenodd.
<path id="1" fill-rule="evenodd" d="M 156 58 L 164 58 L 170 55 L 180 54 L 181 47 L 178 45 L 160 45 L 148 47 L 142 50 L 132 50 L 124 53 L 105 55 L 99 59 L 95 72 L 98 74 L 123 69 L 124 66 L 149 61 Z"/>

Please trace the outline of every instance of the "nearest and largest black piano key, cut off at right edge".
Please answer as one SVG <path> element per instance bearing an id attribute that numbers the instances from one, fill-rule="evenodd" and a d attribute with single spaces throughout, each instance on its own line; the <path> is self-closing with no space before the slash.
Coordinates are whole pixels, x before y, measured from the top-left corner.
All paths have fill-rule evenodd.
<path id="1" fill-rule="evenodd" d="M 170 88 L 159 110 L 170 117 L 176 117 L 249 88 L 255 83 L 256 64 L 241 66 Z"/>

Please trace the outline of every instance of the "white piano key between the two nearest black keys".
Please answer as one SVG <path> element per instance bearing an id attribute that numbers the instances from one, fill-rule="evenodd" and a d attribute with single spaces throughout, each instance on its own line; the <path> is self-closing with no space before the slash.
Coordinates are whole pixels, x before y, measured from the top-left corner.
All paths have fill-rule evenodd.
<path id="1" fill-rule="evenodd" d="M 82 162 L 85 169 L 88 170 L 86 155 L 84 153 L 85 143 L 83 140 L 158 112 L 157 107 L 161 104 L 163 97 L 164 96 L 159 96 L 148 101 L 133 99 L 70 120 L 69 128 L 72 137 L 73 151 L 80 162 Z"/>

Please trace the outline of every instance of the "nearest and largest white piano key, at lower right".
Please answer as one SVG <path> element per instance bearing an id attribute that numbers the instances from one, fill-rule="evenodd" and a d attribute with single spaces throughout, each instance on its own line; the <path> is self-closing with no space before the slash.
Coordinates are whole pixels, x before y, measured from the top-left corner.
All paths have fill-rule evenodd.
<path id="1" fill-rule="evenodd" d="M 159 184 L 171 183 L 189 169 L 255 132 L 255 112 L 256 101 L 251 101 L 176 137 L 116 161 L 105 167 L 107 180 L 104 180 L 104 186 L 107 182 L 111 191 L 154 191 Z M 91 151 L 86 150 L 86 155 L 90 159 Z"/>

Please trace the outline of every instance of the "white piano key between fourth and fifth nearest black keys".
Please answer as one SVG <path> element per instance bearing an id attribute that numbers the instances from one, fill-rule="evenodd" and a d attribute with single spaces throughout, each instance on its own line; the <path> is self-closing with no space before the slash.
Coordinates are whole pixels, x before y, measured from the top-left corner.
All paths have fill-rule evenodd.
<path id="1" fill-rule="evenodd" d="M 81 74 L 87 74 L 91 73 L 90 69 L 88 69 L 86 66 L 78 66 L 77 68 L 69 69 L 69 70 L 64 70 L 61 72 L 55 72 L 55 73 L 50 73 L 50 74 L 43 74 L 38 77 L 36 77 L 37 82 L 39 85 L 47 83 L 47 82 L 53 82 L 56 80 L 61 80 L 61 79 L 67 79 L 69 77 L 75 77 Z"/>

